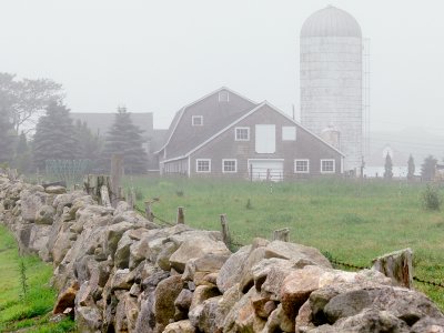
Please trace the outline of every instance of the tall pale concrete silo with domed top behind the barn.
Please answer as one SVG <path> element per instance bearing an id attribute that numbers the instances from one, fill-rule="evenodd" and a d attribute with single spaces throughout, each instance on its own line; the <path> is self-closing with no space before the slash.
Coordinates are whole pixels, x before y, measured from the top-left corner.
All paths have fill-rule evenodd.
<path id="1" fill-rule="evenodd" d="M 360 24 L 332 6 L 301 30 L 301 122 L 324 139 L 335 129 L 331 143 L 345 154 L 344 171 L 356 174 L 363 154 L 362 48 Z"/>

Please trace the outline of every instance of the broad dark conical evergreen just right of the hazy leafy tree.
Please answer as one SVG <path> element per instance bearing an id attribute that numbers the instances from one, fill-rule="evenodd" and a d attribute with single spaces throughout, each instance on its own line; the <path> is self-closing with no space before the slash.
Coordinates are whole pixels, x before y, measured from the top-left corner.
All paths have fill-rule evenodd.
<path id="1" fill-rule="evenodd" d="M 63 104 L 51 103 L 39 119 L 33 139 L 33 162 L 43 169 L 47 160 L 74 160 L 79 155 L 74 125 L 70 110 Z"/>

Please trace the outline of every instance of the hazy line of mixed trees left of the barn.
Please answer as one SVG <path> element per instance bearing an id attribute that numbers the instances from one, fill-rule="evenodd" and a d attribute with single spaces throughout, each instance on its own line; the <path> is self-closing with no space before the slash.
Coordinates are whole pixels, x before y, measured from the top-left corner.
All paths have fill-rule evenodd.
<path id="1" fill-rule="evenodd" d="M 48 160 L 90 160 L 108 171 L 111 155 L 123 155 L 125 172 L 147 171 L 143 131 L 118 108 L 102 139 L 70 117 L 62 85 L 49 79 L 18 79 L 0 73 L 0 164 L 20 172 L 44 170 Z"/>

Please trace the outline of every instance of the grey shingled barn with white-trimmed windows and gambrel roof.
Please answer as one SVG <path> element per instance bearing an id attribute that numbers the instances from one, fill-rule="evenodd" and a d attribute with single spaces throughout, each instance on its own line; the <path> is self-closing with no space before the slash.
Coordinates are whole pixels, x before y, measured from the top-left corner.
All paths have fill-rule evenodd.
<path id="1" fill-rule="evenodd" d="M 278 108 L 229 88 L 179 110 L 157 155 L 163 175 L 271 181 L 340 175 L 344 160 Z"/>

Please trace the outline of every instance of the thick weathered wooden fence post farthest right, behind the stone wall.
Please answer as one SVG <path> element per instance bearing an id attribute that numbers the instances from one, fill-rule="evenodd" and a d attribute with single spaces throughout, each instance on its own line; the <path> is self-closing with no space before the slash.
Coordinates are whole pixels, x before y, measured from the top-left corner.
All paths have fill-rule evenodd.
<path id="1" fill-rule="evenodd" d="M 373 270 L 392 279 L 395 285 L 412 287 L 413 285 L 413 252 L 404 249 L 384 254 L 372 261 Z"/>

